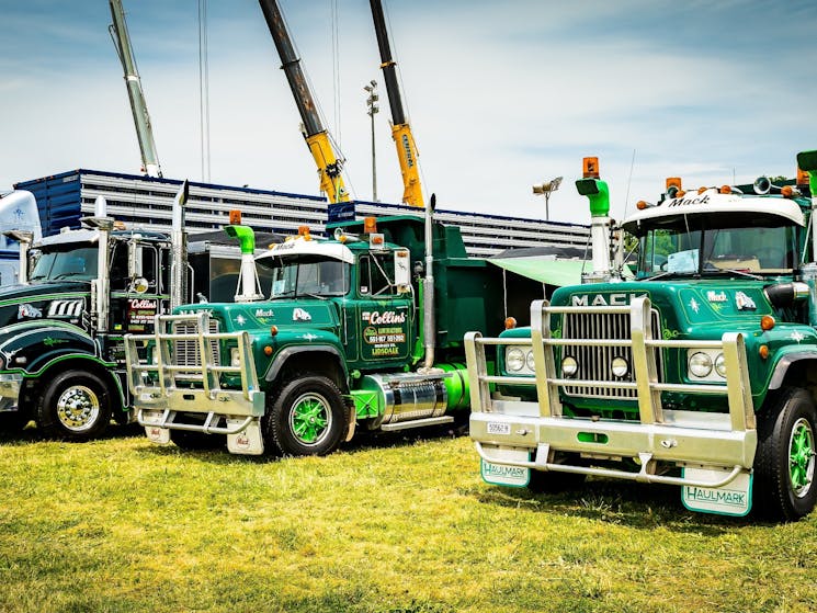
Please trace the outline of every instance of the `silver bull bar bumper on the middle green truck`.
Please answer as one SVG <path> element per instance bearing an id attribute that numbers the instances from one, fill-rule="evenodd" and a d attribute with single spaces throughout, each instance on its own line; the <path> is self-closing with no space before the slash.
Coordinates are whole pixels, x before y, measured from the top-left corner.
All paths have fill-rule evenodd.
<path id="1" fill-rule="evenodd" d="M 157 316 L 155 329 L 125 337 L 128 387 L 148 438 L 168 443 L 172 430 L 222 434 L 232 453 L 263 453 L 265 395 L 247 332 L 218 332 L 206 313 Z M 150 343 L 155 356 L 148 361 L 139 348 Z M 220 354 L 234 349 L 239 365 L 222 365 Z M 240 385 L 224 387 L 225 375 Z"/>

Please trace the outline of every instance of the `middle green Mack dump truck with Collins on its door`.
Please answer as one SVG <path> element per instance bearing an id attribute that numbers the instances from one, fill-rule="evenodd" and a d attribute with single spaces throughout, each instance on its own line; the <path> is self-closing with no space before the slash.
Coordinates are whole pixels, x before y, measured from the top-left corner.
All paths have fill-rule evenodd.
<path id="1" fill-rule="evenodd" d="M 432 197 L 433 202 L 433 197 Z M 156 443 L 237 454 L 322 455 L 356 429 L 441 424 L 468 410 L 463 336 L 499 333 L 502 273 L 459 229 L 416 216 L 298 237 L 248 266 L 235 304 L 193 304 L 126 337 L 138 421 Z M 251 251 L 251 230 L 230 226 Z M 377 231 L 379 230 L 379 231 Z M 531 282 L 531 294 L 542 285 Z M 524 305 L 526 310 L 530 297 Z M 465 413 L 467 417 L 467 412 Z"/>

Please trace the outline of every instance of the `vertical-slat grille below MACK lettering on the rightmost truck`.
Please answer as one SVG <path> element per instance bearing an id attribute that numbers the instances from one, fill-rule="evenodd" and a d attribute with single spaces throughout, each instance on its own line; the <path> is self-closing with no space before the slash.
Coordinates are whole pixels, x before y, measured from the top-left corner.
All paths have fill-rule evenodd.
<path id="1" fill-rule="evenodd" d="M 563 315 L 561 337 L 563 339 L 598 339 L 598 340 L 624 340 L 629 339 L 629 314 L 604 314 L 604 313 L 571 313 Z M 651 309 L 650 319 L 653 336 L 660 334 L 658 311 Z M 662 378 L 661 352 L 655 352 L 658 379 Z M 579 364 L 576 373 L 577 379 L 586 381 L 633 381 L 633 352 L 628 347 L 565 347 L 564 355 L 572 355 Z M 629 364 L 629 374 L 617 378 L 612 374 L 614 357 L 623 357 Z M 585 398 L 636 398 L 635 389 L 621 389 L 604 386 L 572 385 L 564 387 L 565 394 L 581 396 Z"/>

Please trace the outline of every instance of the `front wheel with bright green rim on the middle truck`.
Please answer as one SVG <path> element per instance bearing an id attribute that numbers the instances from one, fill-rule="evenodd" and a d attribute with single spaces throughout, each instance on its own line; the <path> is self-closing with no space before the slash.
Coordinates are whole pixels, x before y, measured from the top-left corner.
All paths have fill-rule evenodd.
<path id="1" fill-rule="evenodd" d="M 310 375 L 283 386 L 266 428 L 283 455 L 326 455 L 349 431 L 349 410 L 334 383 Z"/>

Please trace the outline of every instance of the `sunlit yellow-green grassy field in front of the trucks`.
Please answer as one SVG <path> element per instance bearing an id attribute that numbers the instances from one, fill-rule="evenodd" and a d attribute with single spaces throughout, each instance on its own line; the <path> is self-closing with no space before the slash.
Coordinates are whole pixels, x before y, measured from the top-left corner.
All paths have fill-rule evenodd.
<path id="1" fill-rule="evenodd" d="M 325 458 L 0 438 L 0 611 L 799 612 L 817 516 L 685 511 L 676 488 L 481 481 L 467 438 Z"/>

